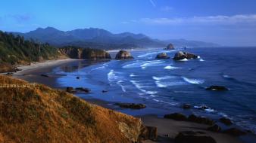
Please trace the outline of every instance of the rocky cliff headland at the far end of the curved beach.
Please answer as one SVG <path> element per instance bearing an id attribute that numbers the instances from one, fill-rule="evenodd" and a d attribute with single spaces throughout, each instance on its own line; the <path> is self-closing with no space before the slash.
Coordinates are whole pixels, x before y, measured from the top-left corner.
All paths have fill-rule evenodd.
<path id="1" fill-rule="evenodd" d="M 72 59 L 111 59 L 111 56 L 105 50 L 81 48 L 81 47 L 63 47 L 59 52 Z"/>

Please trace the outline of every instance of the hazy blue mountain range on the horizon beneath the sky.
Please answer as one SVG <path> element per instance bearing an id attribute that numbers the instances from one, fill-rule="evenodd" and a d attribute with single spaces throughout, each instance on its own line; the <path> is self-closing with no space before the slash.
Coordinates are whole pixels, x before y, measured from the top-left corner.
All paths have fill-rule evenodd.
<path id="1" fill-rule="evenodd" d="M 167 44 L 174 44 L 176 47 L 217 47 L 218 44 L 203 41 L 187 41 L 184 39 L 161 41 L 143 34 L 122 32 L 114 34 L 105 29 L 74 29 L 61 31 L 52 27 L 45 29 L 38 28 L 30 32 L 11 32 L 14 35 L 23 36 L 25 39 L 33 39 L 42 43 L 52 44 L 57 47 L 77 46 L 92 47 L 98 49 L 122 49 L 138 47 L 166 47 Z"/>

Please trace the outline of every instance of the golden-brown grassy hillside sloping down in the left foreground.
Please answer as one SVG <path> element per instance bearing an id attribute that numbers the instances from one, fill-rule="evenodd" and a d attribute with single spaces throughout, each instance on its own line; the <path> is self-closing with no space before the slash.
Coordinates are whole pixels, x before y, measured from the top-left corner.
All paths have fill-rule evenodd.
<path id="1" fill-rule="evenodd" d="M 0 84 L 27 84 L 0 75 Z M 61 90 L 0 88 L 0 142 L 132 142 L 142 121 Z"/>

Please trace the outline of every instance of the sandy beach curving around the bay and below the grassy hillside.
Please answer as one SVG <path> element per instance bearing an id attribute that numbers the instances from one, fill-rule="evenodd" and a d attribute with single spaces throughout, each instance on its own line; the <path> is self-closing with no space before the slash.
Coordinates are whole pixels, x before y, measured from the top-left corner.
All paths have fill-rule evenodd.
<path id="1" fill-rule="evenodd" d="M 20 66 L 19 68 L 23 70 L 17 71 L 17 73 L 14 74 L 14 77 L 20 78 L 29 82 L 38 82 L 39 84 L 45 84 L 49 87 L 64 89 L 64 87 L 60 87 L 58 86 L 58 83 L 56 83 L 56 78 L 58 77 L 52 76 L 50 78 L 45 78 L 40 75 L 42 73 L 51 72 L 54 68 L 57 68 L 60 65 L 66 65 L 71 62 L 79 62 L 79 61 L 84 61 L 84 59 L 60 59 L 57 61 L 47 61 L 47 62 L 36 63 L 33 65 Z M 104 108 L 110 108 L 112 110 L 117 111 L 117 108 L 115 108 L 114 105 L 109 104 L 111 102 L 107 102 L 99 99 L 85 99 L 85 100 L 86 102 L 90 102 L 92 104 L 100 105 Z M 209 132 L 205 130 L 208 126 L 205 126 L 203 124 L 164 119 L 163 117 L 158 117 L 157 115 L 154 115 L 154 114 L 151 114 L 151 115 L 146 114 L 146 115 L 135 116 L 135 117 L 141 118 L 142 122 L 145 123 L 146 126 L 158 127 L 158 131 L 159 131 L 158 135 L 160 140 L 157 142 L 173 142 L 173 137 L 177 135 L 178 132 L 184 131 L 184 129 L 189 131 L 200 130 L 202 132 L 206 132 L 206 135 L 210 135 L 214 137 L 214 139 L 216 139 L 216 141 L 220 143 L 225 143 L 230 141 L 234 143 L 242 142 L 239 138 L 231 135 Z M 186 128 L 184 126 L 186 126 Z M 166 135 L 168 135 L 168 137 Z M 155 141 L 143 141 L 143 142 L 149 143 L 149 142 L 155 142 Z"/>

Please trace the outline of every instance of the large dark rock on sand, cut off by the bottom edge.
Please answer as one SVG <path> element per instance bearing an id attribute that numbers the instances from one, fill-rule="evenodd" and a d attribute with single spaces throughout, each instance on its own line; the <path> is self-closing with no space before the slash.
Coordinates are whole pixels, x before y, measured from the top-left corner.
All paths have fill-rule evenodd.
<path id="1" fill-rule="evenodd" d="M 211 136 L 198 135 L 197 132 L 179 132 L 174 138 L 176 143 L 216 143 Z"/>

